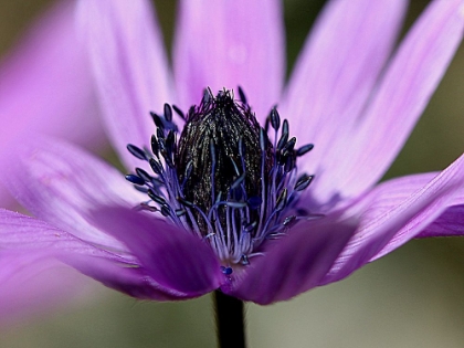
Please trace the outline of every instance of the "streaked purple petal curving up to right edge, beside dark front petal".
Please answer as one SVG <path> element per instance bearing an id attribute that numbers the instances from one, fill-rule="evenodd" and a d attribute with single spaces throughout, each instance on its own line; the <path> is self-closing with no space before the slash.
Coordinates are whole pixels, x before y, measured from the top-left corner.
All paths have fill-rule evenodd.
<path id="1" fill-rule="evenodd" d="M 463 172 L 464 156 L 404 199 L 399 188 L 411 191 L 402 180 L 398 181 L 399 188 L 394 187 L 396 181 L 386 182 L 367 194 L 359 203 L 363 209 L 355 213 L 360 220 L 358 230 L 323 284 L 348 276 L 418 235 L 463 196 Z M 420 176 L 415 179 L 421 180 Z"/>

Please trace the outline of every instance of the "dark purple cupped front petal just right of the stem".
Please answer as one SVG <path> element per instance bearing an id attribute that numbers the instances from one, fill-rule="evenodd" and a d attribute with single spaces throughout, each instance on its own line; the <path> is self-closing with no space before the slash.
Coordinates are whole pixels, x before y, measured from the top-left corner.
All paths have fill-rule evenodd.
<path id="1" fill-rule="evenodd" d="M 252 259 L 236 283 L 222 289 L 261 305 L 306 292 L 327 274 L 355 229 L 330 218 L 296 225 L 287 236 L 267 242 L 264 255 Z"/>

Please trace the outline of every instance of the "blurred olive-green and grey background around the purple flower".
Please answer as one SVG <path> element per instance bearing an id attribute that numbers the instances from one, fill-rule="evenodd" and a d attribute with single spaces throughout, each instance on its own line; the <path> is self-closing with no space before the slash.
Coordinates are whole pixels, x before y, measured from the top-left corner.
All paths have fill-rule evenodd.
<path id="1" fill-rule="evenodd" d="M 155 2 L 169 46 L 176 2 Z M 0 57 L 52 3 L 0 0 Z M 291 70 L 324 1 L 284 3 Z M 405 28 L 426 3 L 411 2 Z M 387 178 L 443 169 L 464 151 L 463 95 L 461 48 Z M 339 283 L 267 307 L 249 304 L 247 336 L 251 347 L 464 347 L 464 240 L 412 241 Z M 136 302 L 95 283 L 72 302 L 0 327 L 0 347 L 64 346 L 214 347 L 212 302 Z"/>

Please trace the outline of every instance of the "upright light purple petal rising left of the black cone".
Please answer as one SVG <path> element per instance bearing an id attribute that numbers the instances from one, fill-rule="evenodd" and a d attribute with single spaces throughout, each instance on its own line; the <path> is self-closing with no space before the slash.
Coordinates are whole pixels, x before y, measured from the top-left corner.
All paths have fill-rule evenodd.
<path id="1" fill-rule="evenodd" d="M 150 110 L 172 102 L 169 70 L 160 30 L 147 0 L 83 0 L 85 38 L 109 136 L 128 166 L 139 166 L 127 144 L 149 145 Z"/>

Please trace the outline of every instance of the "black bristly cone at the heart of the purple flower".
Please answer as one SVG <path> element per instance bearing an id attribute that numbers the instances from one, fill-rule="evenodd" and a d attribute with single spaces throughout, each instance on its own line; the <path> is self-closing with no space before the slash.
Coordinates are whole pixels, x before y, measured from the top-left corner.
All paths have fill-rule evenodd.
<path id="1" fill-rule="evenodd" d="M 204 212 L 211 210 L 217 199 L 259 200 L 262 191 L 261 128 L 250 106 L 235 103 L 229 91 L 220 92 L 215 98 L 209 93 L 201 108 L 188 115 L 175 158 L 179 182 L 184 181 L 184 198 Z M 272 160 L 272 145 L 266 139 L 265 175 Z M 200 230 L 208 232 L 198 211 L 193 214 Z M 220 207 L 218 218 L 223 229 L 225 215 L 225 207 Z"/>

